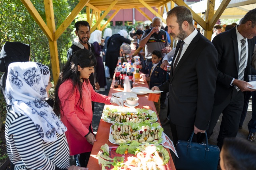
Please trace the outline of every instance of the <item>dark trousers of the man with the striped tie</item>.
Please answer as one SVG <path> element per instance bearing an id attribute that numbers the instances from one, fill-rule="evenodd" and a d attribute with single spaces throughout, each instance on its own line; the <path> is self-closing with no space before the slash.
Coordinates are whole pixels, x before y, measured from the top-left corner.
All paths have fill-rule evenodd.
<path id="1" fill-rule="evenodd" d="M 207 134 L 211 135 L 213 133 L 214 127 L 222 112 L 223 116 L 217 139 L 219 148 L 222 147 L 224 138 L 237 136 L 239 121 L 243 111 L 243 103 L 243 92 L 233 88 L 229 96 L 221 104 L 213 107 Z"/>

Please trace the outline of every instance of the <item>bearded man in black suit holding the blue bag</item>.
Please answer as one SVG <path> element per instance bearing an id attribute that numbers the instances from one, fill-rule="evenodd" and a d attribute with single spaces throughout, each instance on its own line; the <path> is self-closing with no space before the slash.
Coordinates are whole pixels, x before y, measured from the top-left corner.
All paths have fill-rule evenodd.
<path id="1" fill-rule="evenodd" d="M 192 13 L 177 6 L 167 13 L 168 33 L 178 42 L 170 78 L 152 90 L 169 91 L 171 132 L 174 144 L 204 133 L 208 127 L 217 79 L 218 54 L 214 45 L 198 32 Z M 200 136 L 200 135 L 198 135 Z M 198 137 L 194 135 L 194 139 Z"/>

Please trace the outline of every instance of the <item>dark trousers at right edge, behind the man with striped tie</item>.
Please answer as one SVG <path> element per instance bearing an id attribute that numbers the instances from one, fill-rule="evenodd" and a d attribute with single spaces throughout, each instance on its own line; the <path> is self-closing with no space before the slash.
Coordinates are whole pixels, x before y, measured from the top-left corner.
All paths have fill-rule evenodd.
<path id="1" fill-rule="evenodd" d="M 239 126 L 243 126 L 244 119 L 246 117 L 250 96 L 252 96 L 252 119 L 248 123 L 249 132 L 256 132 L 256 92 L 244 93 L 244 107 L 241 115 Z"/>

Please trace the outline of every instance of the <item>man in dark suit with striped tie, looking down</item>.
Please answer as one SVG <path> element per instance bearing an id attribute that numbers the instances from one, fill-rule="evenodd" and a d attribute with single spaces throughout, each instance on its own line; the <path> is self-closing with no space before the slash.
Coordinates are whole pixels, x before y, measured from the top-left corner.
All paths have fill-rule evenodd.
<path id="1" fill-rule="evenodd" d="M 236 137 L 243 110 L 244 91 L 254 91 L 248 81 L 250 61 L 256 36 L 256 9 L 250 10 L 241 25 L 225 31 L 212 40 L 218 51 L 218 78 L 209 134 L 223 114 L 218 136 L 221 148 L 225 137 Z"/>

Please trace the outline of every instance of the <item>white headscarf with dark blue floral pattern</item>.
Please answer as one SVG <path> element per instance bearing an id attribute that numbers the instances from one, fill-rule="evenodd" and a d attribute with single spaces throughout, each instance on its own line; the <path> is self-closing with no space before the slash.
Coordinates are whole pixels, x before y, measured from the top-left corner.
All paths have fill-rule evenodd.
<path id="1" fill-rule="evenodd" d="M 50 77 L 47 66 L 37 62 L 13 62 L 8 67 L 5 95 L 16 113 L 27 115 L 45 142 L 57 140 L 56 132 L 67 131 L 45 101 Z"/>

